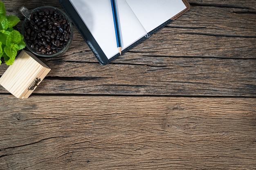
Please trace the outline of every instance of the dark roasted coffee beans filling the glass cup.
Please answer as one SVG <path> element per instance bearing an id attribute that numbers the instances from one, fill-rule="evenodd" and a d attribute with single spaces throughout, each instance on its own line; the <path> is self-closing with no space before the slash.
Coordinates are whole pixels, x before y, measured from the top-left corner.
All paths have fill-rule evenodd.
<path id="1" fill-rule="evenodd" d="M 70 40 L 70 24 L 57 9 L 38 9 L 25 22 L 23 35 L 29 48 L 36 53 L 52 55 L 61 51 Z"/>

